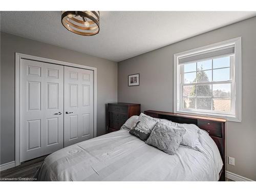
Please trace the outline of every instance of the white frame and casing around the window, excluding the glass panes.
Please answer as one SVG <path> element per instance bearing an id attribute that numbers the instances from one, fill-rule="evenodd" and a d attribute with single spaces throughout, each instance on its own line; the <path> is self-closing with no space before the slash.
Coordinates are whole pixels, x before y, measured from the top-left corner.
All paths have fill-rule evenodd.
<path id="1" fill-rule="evenodd" d="M 181 53 L 174 54 L 174 113 L 182 113 L 182 114 L 194 114 L 194 115 L 202 115 L 209 117 L 217 117 L 217 118 L 225 118 L 229 121 L 241 122 L 242 121 L 242 53 L 241 53 L 241 37 L 232 38 L 229 40 L 225 40 L 222 42 L 217 42 L 216 44 L 207 45 L 204 47 L 196 48 L 193 50 L 184 51 Z M 230 76 L 233 79 L 233 83 L 231 83 L 231 90 L 233 93 L 231 94 L 233 103 L 233 113 L 231 114 L 221 114 L 219 112 L 214 111 L 203 111 L 203 110 L 183 110 L 180 108 L 180 94 L 182 94 L 182 90 L 180 89 L 180 72 L 179 72 L 179 58 L 184 58 L 189 55 L 200 54 L 202 52 L 211 51 L 214 49 L 220 49 L 227 46 L 234 46 L 234 65 L 233 68 L 230 66 L 230 70 L 232 70 Z M 205 84 L 205 83 L 202 83 Z"/>

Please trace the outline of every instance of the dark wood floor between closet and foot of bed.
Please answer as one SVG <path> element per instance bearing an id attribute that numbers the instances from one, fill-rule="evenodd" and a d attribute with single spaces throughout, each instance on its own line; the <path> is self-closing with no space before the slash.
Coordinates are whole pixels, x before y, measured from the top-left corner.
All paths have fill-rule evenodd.
<path id="1" fill-rule="evenodd" d="M 40 168 L 42 161 L 44 161 L 46 157 L 47 155 L 38 157 L 36 159 L 26 161 L 20 164 L 19 166 L 3 170 L 2 172 L 0 172 L 0 177 L 2 178 L 1 180 L 3 181 L 4 180 L 3 178 L 16 178 L 16 179 L 25 178 L 25 179 L 19 179 L 19 180 L 34 181 L 36 171 L 38 168 Z"/>

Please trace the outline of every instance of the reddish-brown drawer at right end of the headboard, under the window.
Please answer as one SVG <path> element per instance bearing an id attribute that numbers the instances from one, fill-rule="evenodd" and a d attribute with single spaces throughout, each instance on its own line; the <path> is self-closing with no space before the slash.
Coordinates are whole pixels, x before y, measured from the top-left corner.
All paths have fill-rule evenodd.
<path id="1" fill-rule="evenodd" d="M 222 137 L 221 122 L 198 120 L 198 127 L 207 131 L 211 136 Z"/>

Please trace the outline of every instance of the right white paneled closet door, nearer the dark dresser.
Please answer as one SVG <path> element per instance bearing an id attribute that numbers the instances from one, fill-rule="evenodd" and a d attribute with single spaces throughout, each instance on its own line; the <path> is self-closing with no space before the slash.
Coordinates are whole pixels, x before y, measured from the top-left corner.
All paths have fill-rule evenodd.
<path id="1" fill-rule="evenodd" d="M 93 71 L 64 67 L 64 146 L 93 138 Z"/>

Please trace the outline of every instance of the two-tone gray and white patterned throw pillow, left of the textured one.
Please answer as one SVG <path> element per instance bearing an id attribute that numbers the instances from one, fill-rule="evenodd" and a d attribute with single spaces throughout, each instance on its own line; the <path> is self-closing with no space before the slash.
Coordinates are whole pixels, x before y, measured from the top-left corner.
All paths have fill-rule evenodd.
<path id="1" fill-rule="evenodd" d="M 139 137 L 142 141 L 145 141 L 150 136 L 157 122 L 158 120 L 153 117 L 141 113 L 137 122 L 132 126 L 130 133 Z"/>

